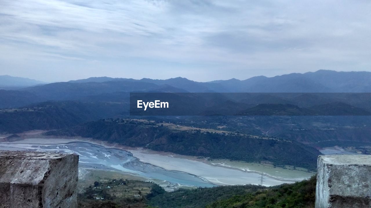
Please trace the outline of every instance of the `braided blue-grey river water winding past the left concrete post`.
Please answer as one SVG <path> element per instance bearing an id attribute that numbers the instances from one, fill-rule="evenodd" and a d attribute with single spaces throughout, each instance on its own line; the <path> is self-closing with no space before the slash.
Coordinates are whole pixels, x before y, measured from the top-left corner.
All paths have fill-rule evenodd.
<path id="1" fill-rule="evenodd" d="M 197 187 L 213 187 L 211 182 L 180 171 L 168 171 L 163 168 L 144 163 L 132 156 L 128 151 L 118 148 L 106 148 L 88 142 L 68 142 L 64 144 L 24 144 L 0 143 L 0 150 L 26 150 L 76 153 L 79 155 L 79 168 L 124 171 L 139 177 L 168 181 Z"/>

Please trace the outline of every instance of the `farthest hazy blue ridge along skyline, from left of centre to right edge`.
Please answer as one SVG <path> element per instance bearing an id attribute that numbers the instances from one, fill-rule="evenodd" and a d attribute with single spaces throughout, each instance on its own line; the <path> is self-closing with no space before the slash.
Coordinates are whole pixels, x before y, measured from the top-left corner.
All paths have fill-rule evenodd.
<path id="1" fill-rule="evenodd" d="M 304 74 L 292 73 L 282 76 L 257 76 L 247 80 L 216 80 L 196 82 L 187 78 L 176 77 L 167 80 L 141 80 L 111 77 L 91 77 L 83 80 L 69 81 L 70 83 L 87 83 L 106 81 L 145 82 L 156 85 L 169 85 L 188 92 L 250 92 L 250 93 L 331 93 L 331 92 L 371 92 L 371 72 L 337 72 L 318 70 Z"/>

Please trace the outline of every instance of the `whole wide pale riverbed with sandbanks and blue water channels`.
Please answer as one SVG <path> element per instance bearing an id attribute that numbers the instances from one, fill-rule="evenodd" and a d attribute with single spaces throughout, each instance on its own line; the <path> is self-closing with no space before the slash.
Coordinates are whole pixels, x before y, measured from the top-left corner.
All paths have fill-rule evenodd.
<path id="1" fill-rule="evenodd" d="M 85 139 L 27 138 L 0 142 L 0 150 L 74 152 L 79 155 L 80 178 L 89 170 L 108 170 L 177 186 L 213 187 L 215 185 L 259 184 L 260 174 L 207 164 L 202 161 L 155 154 L 143 149 L 128 149 L 99 145 Z M 181 155 L 179 155 L 181 156 Z M 298 179 L 278 179 L 265 176 L 264 185 L 272 186 Z"/>

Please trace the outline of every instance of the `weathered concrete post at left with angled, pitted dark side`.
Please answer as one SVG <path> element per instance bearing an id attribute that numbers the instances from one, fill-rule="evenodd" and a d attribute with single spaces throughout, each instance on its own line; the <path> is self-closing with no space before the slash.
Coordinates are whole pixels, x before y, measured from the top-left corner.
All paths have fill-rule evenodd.
<path id="1" fill-rule="evenodd" d="M 0 151 L 1 208 L 76 208 L 75 154 Z"/>

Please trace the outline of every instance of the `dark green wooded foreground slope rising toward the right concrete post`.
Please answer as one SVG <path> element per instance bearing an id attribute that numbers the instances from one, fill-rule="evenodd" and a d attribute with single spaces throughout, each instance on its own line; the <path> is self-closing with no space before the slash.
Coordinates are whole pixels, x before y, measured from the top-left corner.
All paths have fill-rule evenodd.
<path id="1" fill-rule="evenodd" d="M 314 208 L 316 178 L 276 187 L 236 185 L 167 192 L 147 204 L 161 208 Z"/>

